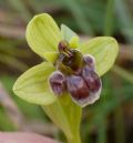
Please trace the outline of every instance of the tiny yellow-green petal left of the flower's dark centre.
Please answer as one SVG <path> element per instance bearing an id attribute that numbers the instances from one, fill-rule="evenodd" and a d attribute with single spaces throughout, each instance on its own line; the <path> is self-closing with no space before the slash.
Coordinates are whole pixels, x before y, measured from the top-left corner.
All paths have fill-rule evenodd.
<path id="1" fill-rule="evenodd" d="M 59 53 L 58 52 L 45 52 L 43 54 L 43 57 L 45 58 L 47 61 L 51 62 L 51 63 L 55 63 Z"/>

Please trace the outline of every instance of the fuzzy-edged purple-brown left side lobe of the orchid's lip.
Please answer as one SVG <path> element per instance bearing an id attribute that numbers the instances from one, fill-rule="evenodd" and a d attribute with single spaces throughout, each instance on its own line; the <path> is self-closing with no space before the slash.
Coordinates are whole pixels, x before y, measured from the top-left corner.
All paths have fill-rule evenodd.
<path id="1" fill-rule="evenodd" d="M 49 80 L 54 94 L 61 95 L 65 90 L 65 76 L 61 72 L 55 71 L 50 75 Z"/>

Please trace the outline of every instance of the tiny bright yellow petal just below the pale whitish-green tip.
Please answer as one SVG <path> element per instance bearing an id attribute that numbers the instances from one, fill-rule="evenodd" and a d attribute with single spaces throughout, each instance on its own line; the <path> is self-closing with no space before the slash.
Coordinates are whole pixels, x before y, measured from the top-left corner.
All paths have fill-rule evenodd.
<path id="1" fill-rule="evenodd" d="M 73 37 L 69 41 L 69 47 L 72 48 L 72 49 L 76 49 L 79 47 L 79 37 Z"/>

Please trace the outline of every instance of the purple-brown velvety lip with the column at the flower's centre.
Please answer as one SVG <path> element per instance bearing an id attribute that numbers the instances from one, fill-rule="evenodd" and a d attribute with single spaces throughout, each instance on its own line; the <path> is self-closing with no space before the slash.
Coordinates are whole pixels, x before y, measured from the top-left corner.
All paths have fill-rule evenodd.
<path id="1" fill-rule="evenodd" d="M 50 76 L 54 94 L 60 95 L 66 90 L 80 106 L 93 103 L 101 92 L 101 80 L 94 70 L 94 58 L 69 49 L 65 41 L 59 43 L 59 52 L 55 67 L 60 72 L 57 71 Z"/>

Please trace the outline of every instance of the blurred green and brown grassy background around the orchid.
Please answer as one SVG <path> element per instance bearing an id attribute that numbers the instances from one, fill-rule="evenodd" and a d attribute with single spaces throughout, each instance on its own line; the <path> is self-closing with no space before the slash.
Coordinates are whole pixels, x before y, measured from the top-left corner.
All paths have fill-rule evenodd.
<path id="1" fill-rule="evenodd" d="M 41 108 L 12 92 L 16 79 L 42 61 L 28 48 L 24 31 L 38 13 L 50 13 L 89 38 L 112 35 L 120 44 L 113 69 L 105 74 L 101 99 L 83 110 L 83 143 L 133 143 L 133 1 L 0 0 L 0 131 L 29 131 L 64 141 Z"/>

